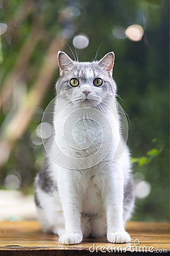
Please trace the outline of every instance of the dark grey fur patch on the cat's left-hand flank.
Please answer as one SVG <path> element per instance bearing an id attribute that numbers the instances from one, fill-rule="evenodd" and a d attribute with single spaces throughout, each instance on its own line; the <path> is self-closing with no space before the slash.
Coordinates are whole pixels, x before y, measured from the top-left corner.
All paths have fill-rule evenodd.
<path id="1" fill-rule="evenodd" d="M 48 194 L 52 194 L 58 189 L 57 183 L 54 181 L 52 172 L 49 169 L 48 158 L 45 158 L 44 167 L 39 174 L 38 184 L 42 191 Z"/>

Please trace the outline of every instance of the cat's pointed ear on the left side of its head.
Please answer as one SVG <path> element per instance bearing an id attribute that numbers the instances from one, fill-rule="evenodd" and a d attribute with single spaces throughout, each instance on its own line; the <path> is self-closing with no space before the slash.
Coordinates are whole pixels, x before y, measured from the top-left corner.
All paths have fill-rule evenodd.
<path id="1" fill-rule="evenodd" d="M 58 66 L 59 75 L 63 76 L 65 71 L 69 71 L 70 67 L 74 64 L 74 61 L 65 53 L 58 51 Z"/>

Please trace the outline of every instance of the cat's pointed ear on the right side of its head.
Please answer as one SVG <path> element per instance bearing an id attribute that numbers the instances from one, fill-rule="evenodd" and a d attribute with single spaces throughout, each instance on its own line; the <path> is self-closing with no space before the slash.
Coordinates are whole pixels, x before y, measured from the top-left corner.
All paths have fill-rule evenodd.
<path id="1" fill-rule="evenodd" d="M 113 65 L 114 65 L 114 52 L 109 52 L 99 61 L 99 65 L 109 72 L 112 76 Z"/>

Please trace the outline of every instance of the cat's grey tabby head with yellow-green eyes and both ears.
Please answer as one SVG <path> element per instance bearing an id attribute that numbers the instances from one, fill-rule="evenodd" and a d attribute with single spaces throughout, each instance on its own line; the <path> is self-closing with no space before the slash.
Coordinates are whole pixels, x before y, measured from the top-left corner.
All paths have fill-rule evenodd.
<path id="1" fill-rule="evenodd" d="M 113 52 L 107 53 L 100 61 L 79 62 L 59 51 L 57 94 L 65 92 L 67 100 L 74 106 L 95 108 L 116 94 L 116 84 L 112 79 L 113 64 Z"/>

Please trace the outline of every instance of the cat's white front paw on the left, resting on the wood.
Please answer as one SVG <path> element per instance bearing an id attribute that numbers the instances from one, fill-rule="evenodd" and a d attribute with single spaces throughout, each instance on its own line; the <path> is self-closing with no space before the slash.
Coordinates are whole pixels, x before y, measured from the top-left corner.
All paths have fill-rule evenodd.
<path id="1" fill-rule="evenodd" d="M 69 234 L 63 234 L 61 237 L 59 237 L 59 242 L 63 245 L 75 245 L 76 243 L 82 242 L 82 234 L 79 233 L 69 233 Z"/>

